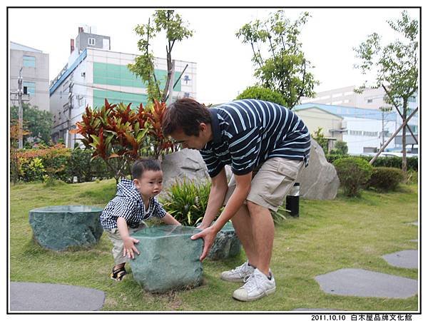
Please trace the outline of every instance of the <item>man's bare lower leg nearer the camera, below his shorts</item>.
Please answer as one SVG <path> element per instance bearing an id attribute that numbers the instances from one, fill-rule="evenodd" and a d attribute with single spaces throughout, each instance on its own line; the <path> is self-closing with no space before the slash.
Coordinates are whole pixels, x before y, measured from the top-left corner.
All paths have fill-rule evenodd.
<path id="1" fill-rule="evenodd" d="M 273 238 L 275 227 L 270 210 L 247 201 L 250 213 L 250 224 L 253 232 L 253 253 L 255 252 L 255 266 L 269 277 L 270 258 L 272 257 Z M 238 235 L 239 237 L 239 235 Z"/>

